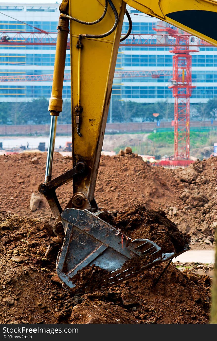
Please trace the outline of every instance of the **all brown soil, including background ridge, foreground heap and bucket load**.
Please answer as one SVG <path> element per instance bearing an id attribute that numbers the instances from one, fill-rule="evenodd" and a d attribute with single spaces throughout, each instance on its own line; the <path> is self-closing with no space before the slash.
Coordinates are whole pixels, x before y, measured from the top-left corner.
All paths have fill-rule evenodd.
<path id="1" fill-rule="evenodd" d="M 216 161 L 164 169 L 134 154 L 104 156 L 95 192 L 101 214 L 128 237 L 154 238 L 166 251 L 181 250 L 188 234 L 192 249 L 213 249 Z M 99 269 L 88 268 L 78 281 L 88 281 L 89 292 L 63 288 L 55 271 L 63 240 L 53 234 L 50 208 L 43 197 L 36 211 L 29 208 L 45 164 L 46 153 L 0 157 L 0 323 L 208 323 L 211 278 L 174 264 L 159 281 L 167 263 L 104 290 L 91 284 Z M 55 153 L 53 176 L 69 168 L 71 160 Z M 63 207 L 71 194 L 71 183 L 58 189 Z"/>

